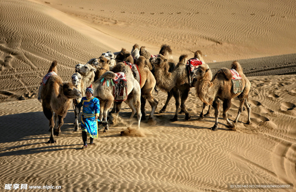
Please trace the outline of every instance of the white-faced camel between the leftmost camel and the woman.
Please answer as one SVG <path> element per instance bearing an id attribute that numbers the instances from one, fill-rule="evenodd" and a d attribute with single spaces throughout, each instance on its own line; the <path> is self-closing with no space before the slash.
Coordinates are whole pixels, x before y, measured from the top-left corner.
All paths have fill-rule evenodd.
<path id="1" fill-rule="evenodd" d="M 76 87 L 76 89 L 78 89 L 81 94 L 82 94 L 82 97 L 85 96 L 85 90 L 83 90 L 83 87 L 84 87 L 84 83 L 82 81 L 82 76 L 81 74 L 79 73 L 74 73 L 72 76 L 71 76 L 71 79 L 72 79 L 72 84 L 74 87 Z M 76 98 L 76 99 L 73 99 L 73 106 L 74 106 L 74 113 L 75 113 L 75 122 L 74 122 L 74 129 L 73 131 L 78 131 L 79 129 L 79 123 L 78 123 L 78 116 L 79 116 L 79 113 L 80 113 L 80 110 L 78 107 L 75 107 L 75 105 L 78 105 L 78 103 L 81 101 L 81 98 Z"/>

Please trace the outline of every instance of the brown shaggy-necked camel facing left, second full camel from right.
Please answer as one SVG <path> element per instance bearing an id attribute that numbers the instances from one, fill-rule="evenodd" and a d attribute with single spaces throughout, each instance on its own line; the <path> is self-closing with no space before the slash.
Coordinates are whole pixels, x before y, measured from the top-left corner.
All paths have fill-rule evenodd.
<path id="1" fill-rule="evenodd" d="M 189 120 L 191 115 L 189 115 L 186 110 L 185 101 L 188 97 L 190 90 L 188 83 L 188 76 L 186 70 L 187 55 L 181 55 L 179 57 L 179 62 L 172 72 L 169 72 L 170 65 L 168 64 L 168 59 L 159 54 L 157 57 L 150 58 L 150 63 L 155 65 L 155 78 L 157 86 L 166 92 L 172 91 L 172 94 L 176 100 L 176 113 L 171 121 L 178 121 L 178 109 L 180 105 L 180 93 L 181 93 L 181 110 L 185 113 L 185 120 Z"/>

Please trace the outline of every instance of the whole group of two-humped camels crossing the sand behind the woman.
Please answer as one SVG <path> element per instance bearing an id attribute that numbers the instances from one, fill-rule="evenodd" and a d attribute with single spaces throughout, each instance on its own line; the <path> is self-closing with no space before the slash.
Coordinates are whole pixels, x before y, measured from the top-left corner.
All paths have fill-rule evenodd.
<path id="1" fill-rule="evenodd" d="M 49 120 L 51 131 L 49 143 L 55 143 L 54 136 L 60 135 L 63 118 L 71 102 L 75 112 L 73 131 L 78 131 L 78 117 L 81 110 L 78 103 L 81 97 L 85 97 L 86 88 L 91 85 L 94 90 L 93 96 L 100 102 L 98 119 L 107 122 L 104 132 L 109 131 L 110 113 L 115 113 L 118 117 L 122 102 L 132 110 L 130 121 L 134 115 L 137 115 L 137 127 L 140 128 L 140 122 L 146 121 L 147 100 L 151 106 L 147 123 L 150 126 L 156 125 L 154 114 L 158 101 L 152 93 L 157 92 L 157 88 L 168 94 L 165 105 L 157 113 L 164 113 L 171 97 L 175 98 L 176 111 L 170 121 L 178 121 L 180 113 L 185 113 L 186 121 L 191 119 L 185 101 L 190 89 L 194 87 L 197 97 L 203 102 L 197 120 L 210 115 L 211 107 L 215 110 L 215 124 L 211 130 L 218 130 L 219 100 L 223 101 L 223 118 L 230 129 L 236 130 L 235 123 L 243 111 L 243 105 L 248 112 L 247 124 L 250 124 L 251 108 L 248 103 L 250 81 L 244 75 L 240 64 L 233 61 L 231 69 L 222 68 L 213 76 L 201 51 L 196 51 L 190 59 L 186 54 L 181 55 L 176 62 L 169 45 L 162 45 L 159 53 L 152 55 L 144 46 L 139 47 L 135 44 L 131 52 L 124 48 L 114 53 L 107 51 L 99 58 L 90 59 L 86 64 L 76 64 L 71 79 L 72 83 L 62 82 L 57 75 L 57 62 L 53 61 L 39 88 L 38 100 L 42 103 L 44 115 Z M 240 105 L 236 119 L 231 122 L 227 111 L 234 97 L 238 97 Z M 204 114 L 207 105 L 209 108 Z"/>

